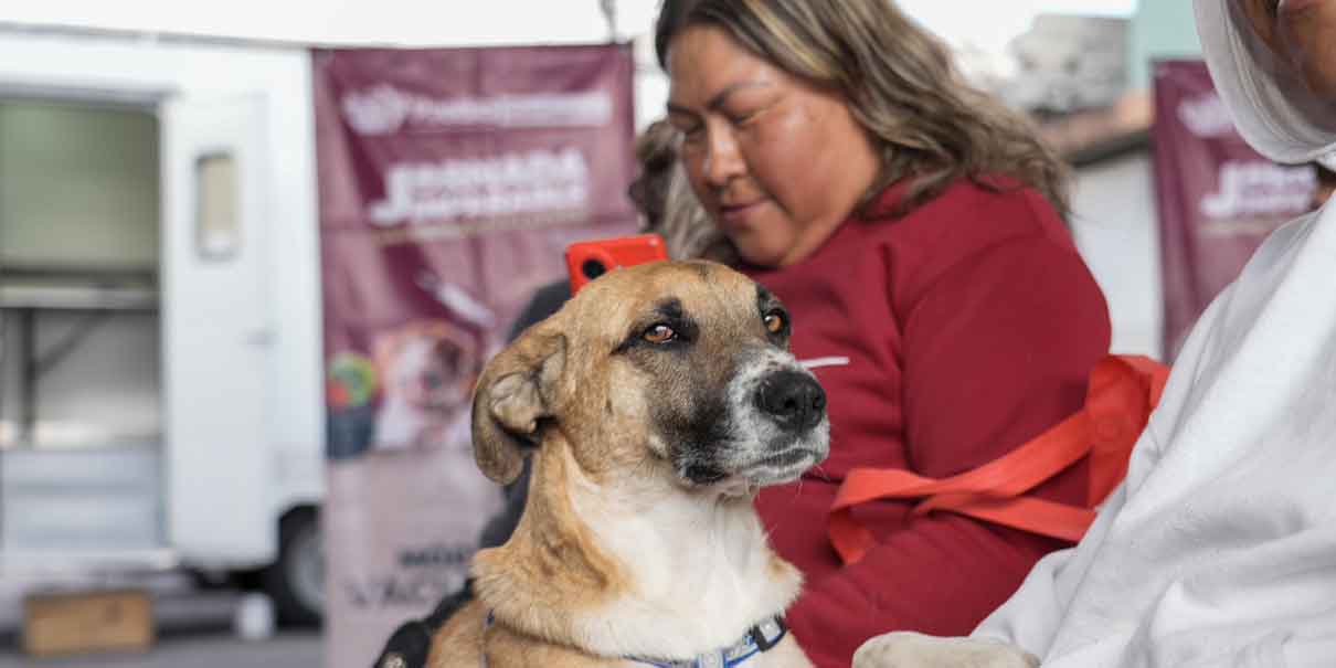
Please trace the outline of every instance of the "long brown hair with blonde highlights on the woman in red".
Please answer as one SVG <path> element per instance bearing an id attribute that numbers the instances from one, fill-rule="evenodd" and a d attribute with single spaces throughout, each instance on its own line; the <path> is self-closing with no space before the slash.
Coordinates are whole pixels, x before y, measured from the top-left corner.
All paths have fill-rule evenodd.
<path id="1" fill-rule="evenodd" d="M 1007 187 L 1010 178 L 1069 211 L 1067 167 L 1034 126 L 969 86 L 950 51 L 891 0 L 664 0 L 655 29 L 659 64 L 672 37 L 693 24 L 725 29 L 744 48 L 820 88 L 838 92 L 882 154 L 868 195 L 914 180 L 904 214 L 969 178 Z"/>

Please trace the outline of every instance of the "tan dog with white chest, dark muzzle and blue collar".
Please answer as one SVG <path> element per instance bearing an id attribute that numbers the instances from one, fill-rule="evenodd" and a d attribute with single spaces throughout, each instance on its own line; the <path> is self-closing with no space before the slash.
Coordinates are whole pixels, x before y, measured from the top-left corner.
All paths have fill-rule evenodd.
<path id="1" fill-rule="evenodd" d="M 589 283 L 492 359 L 474 454 L 505 482 L 532 452 L 529 501 L 428 665 L 811 665 L 779 621 L 802 577 L 752 510 L 828 452 L 788 327 L 741 274 L 661 262 Z"/>

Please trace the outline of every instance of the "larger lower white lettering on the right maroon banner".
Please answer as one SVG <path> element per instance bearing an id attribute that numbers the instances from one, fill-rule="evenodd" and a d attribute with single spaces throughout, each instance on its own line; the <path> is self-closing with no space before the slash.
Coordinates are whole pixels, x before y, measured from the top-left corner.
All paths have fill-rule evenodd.
<path id="1" fill-rule="evenodd" d="M 1220 186 L 1201 199 L 1206 218 L 1292 215 L 1308 207 L 1317 176 L 1311 167 L 1285 167 L 1265 160 L 1226 162 Z"/>

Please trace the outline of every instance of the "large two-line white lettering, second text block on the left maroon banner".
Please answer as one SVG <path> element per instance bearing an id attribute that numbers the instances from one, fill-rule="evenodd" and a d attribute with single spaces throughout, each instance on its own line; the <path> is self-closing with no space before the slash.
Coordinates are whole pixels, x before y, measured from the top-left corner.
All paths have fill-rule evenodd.
<path id="1" fill-rule="evenodd" d="M 589 166 L 576 148 L 496 158 L 391 164 L 385 199 L 369 207 L 371 223 L 489 218 L 585 208 Z"/>

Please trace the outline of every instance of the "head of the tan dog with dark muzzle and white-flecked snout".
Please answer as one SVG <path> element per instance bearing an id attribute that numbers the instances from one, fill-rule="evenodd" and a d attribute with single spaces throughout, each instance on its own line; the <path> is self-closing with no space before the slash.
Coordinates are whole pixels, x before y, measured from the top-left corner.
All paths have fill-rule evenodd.
<path id="1" fill-rule="evenodd" d="M 484 370 L 478 465 L 505 482 L 525 448 L 560 438 L 592 476 L 660 470 L 725 493 L 794 480 L 826 457 L 830 428 L 788 335 L 783 305 L 721 265 L 613 271 Z"/>

